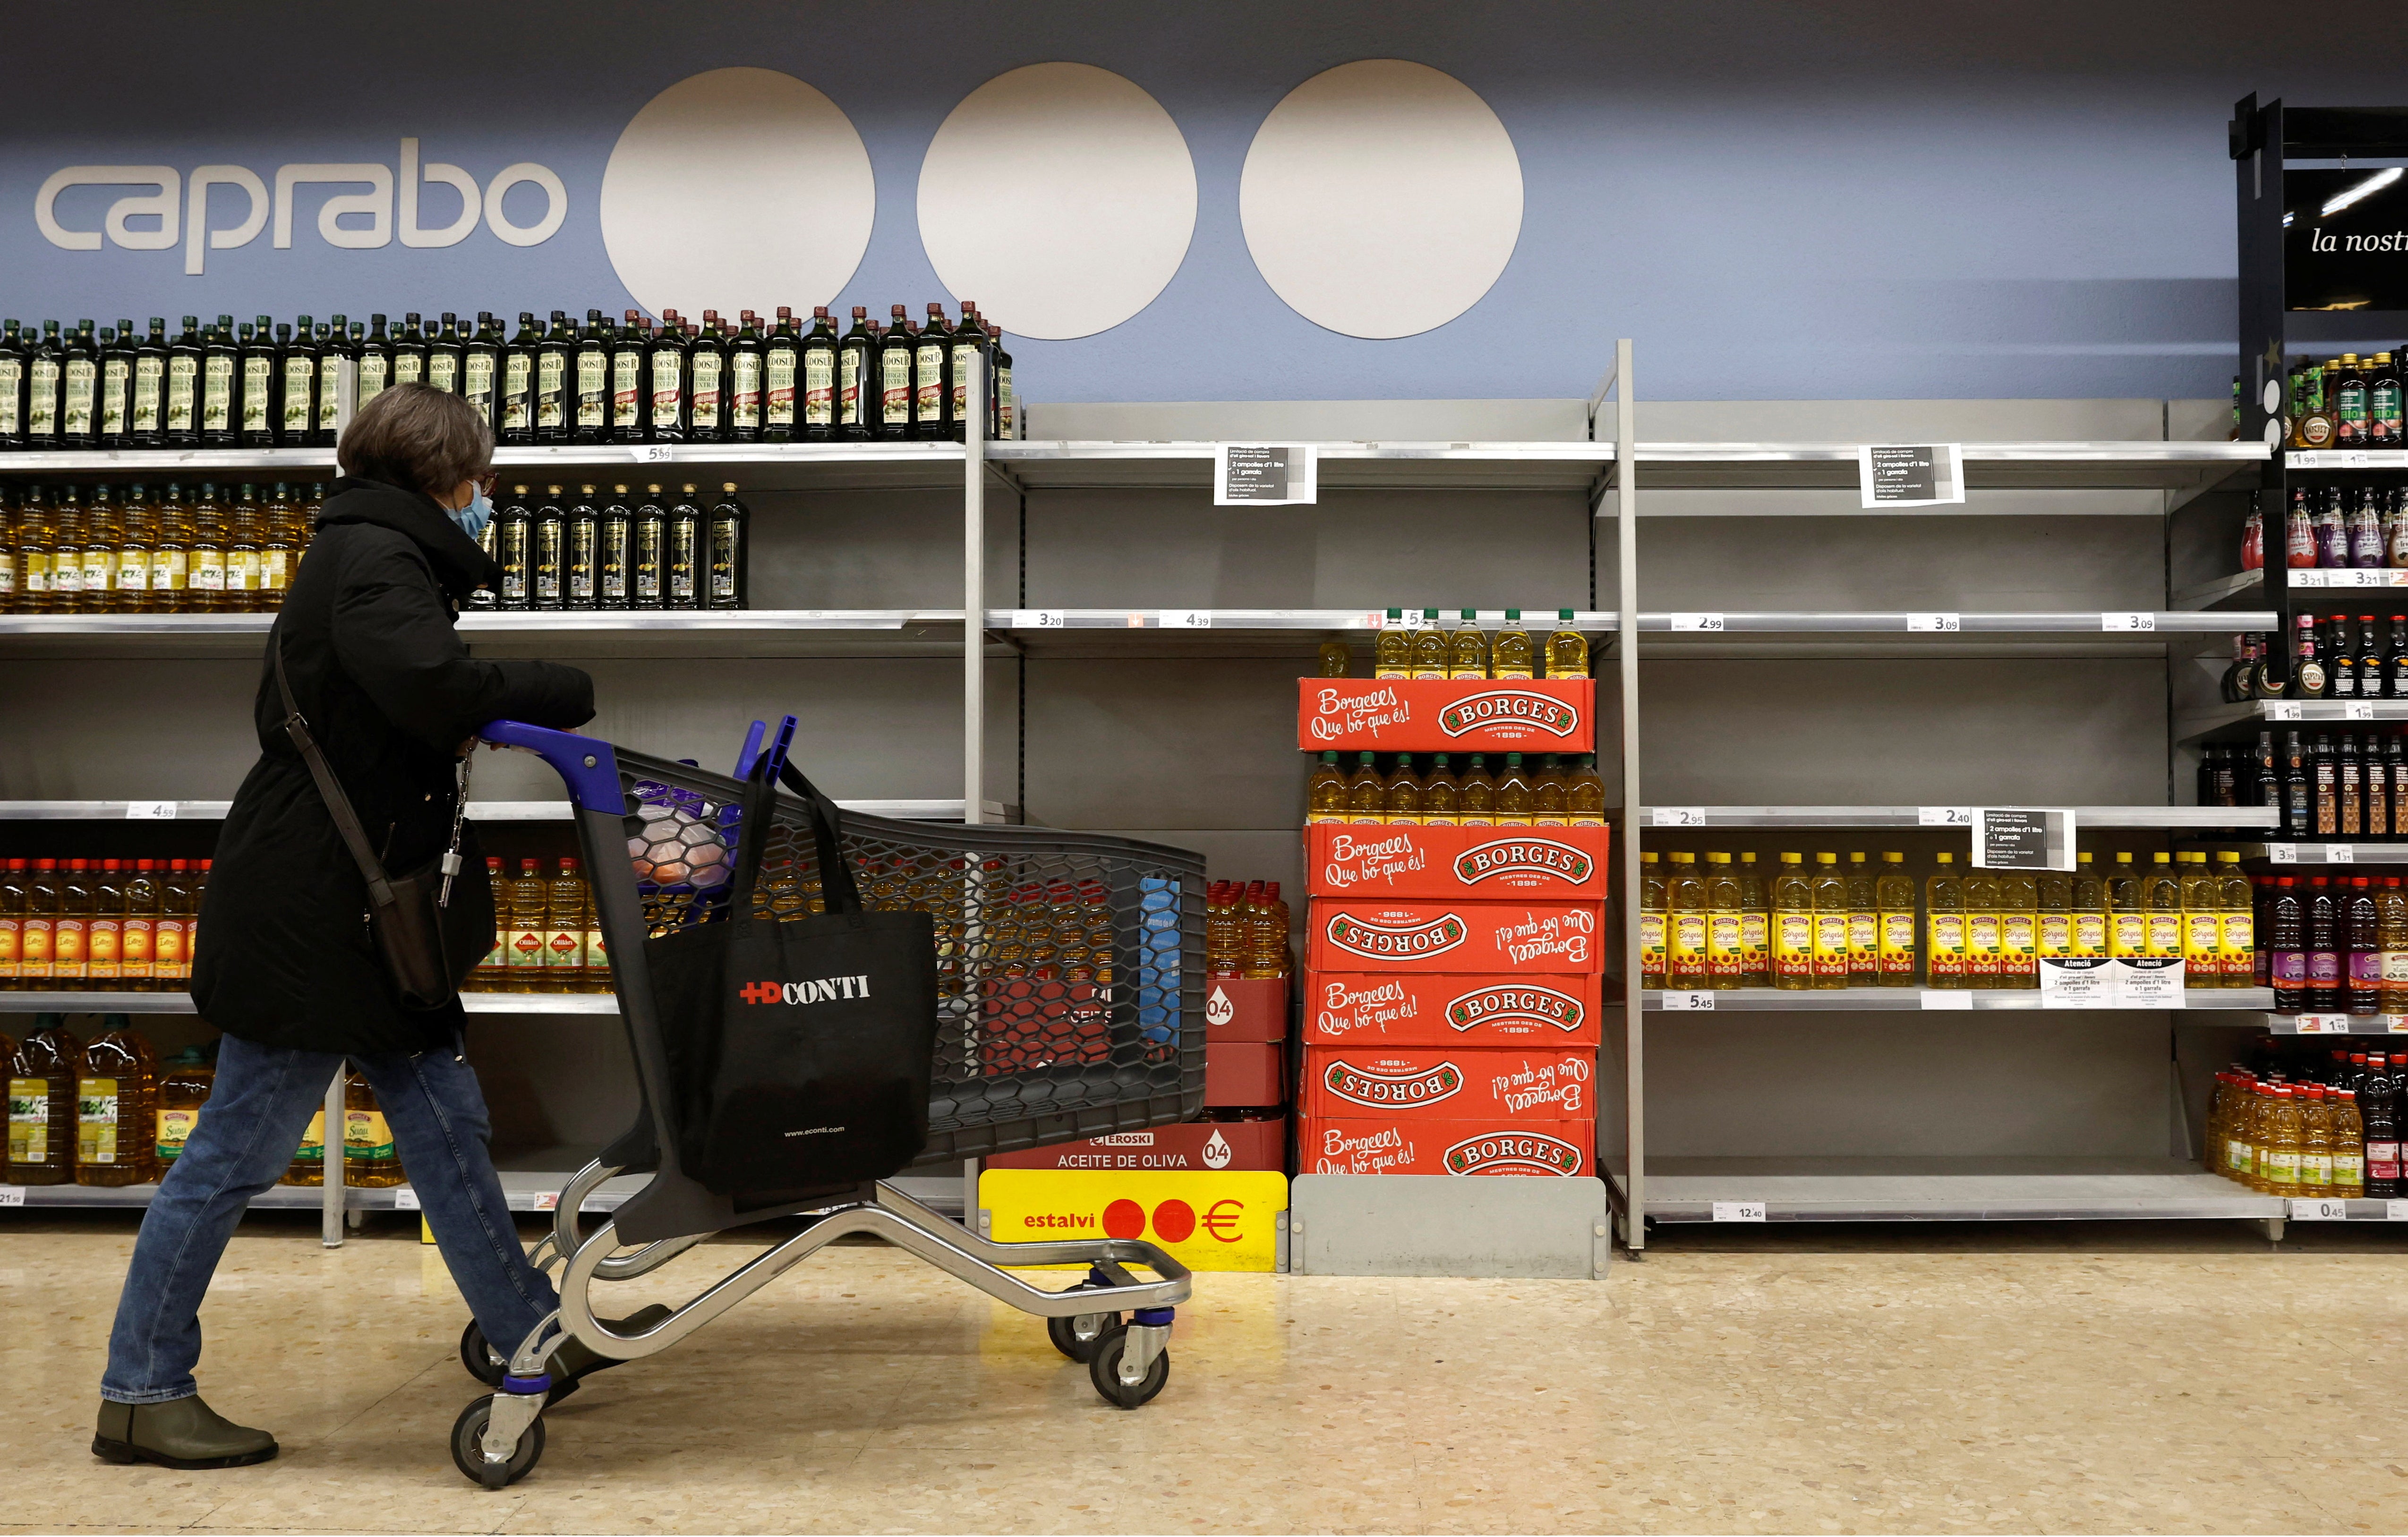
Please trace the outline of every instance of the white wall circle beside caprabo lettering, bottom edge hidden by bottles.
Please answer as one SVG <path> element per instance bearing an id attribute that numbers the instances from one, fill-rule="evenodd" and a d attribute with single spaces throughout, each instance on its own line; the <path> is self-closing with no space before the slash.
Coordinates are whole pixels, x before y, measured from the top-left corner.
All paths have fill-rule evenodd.
<path id="1" fill-rule="evenodd" d="M 706 70 L 643 104 L 602 169 L 602 246 L 648 311 L 831 304 L 877 178 L 833 101 L 778 70 Z"/>

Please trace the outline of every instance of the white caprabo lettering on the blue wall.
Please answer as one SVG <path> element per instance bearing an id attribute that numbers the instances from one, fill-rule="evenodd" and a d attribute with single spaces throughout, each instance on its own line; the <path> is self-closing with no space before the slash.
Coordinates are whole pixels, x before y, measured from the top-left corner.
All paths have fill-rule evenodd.
<path id="1" fill-rule="evenodd" d="M 234 251 L 260 238 L 275 224 L 272 246 L 291 251 L 294 205 L 303 186 L 366 188 L 347 190 L 318 205 L 318 238 L 337 251 L 378 251 L 400 236 L 402 246 L 441 248 L 465 241 L 482 219 L 508 246 L 542 246 L 559 234 L 568 219 L 568 188 L 559 173 L 535 161 L 503 166 L 491 183 L 460 166 L 443 161 L 419 161 L 419 142 L 402 140 L 400 171 L 373 161 L 294 161 L 275 169 L 275 190 L 248 166 L 195 166 L 190 173 L 176 166 L 63 166 L 53 171 L 34 193 L 34 226 L 41 238 L 60 251 L 99 251 L 120 246 L 125 251 L 173 251 L 183 246 L 183 270 L 200 277 L 205 251 Z M 513 224 L 503 212 L 510 188 L 530 183 L 544 193 L 544 217 L 535 224 Z M 118 198 L 108 205 L 96 229 L 70 229 L 58 212 L 60 193 L 70 188 L 147 188 Z M 419 224 L 419 195 L 424 186 L 443 186 L 458 193 L 460 214 L 450 224 L 433 229 Z M 209 188 L 231 188 L 241 198 L 222 198 L 219 212 L 241 207 L 243 214 L 226 224 L 209 224 Z M 395 202 L 400 207 L 395 210 Z M 395 212 L 400 217 L 395 217 Z M 344 224 L 344 219 L 366 219 Z"/>

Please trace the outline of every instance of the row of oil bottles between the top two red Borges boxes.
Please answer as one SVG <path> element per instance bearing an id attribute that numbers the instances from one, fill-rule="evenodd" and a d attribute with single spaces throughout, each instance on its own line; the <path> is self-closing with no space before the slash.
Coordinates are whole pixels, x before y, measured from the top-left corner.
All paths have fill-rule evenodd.
<path id="1" fill-rule="evenodd" d="M 1399 752 L 1380 773 L 1377 754 L 1353 766 L 1324 752 L 1305 773 L 1305 824 L 1382 822 L 1401 826 L 1604 826 L 1606 783 L 1594 752 L 1507 752 L 1491 771 L 1486 752 Z M 1428 761 L 1428 768 L 1421 764 Z"/>

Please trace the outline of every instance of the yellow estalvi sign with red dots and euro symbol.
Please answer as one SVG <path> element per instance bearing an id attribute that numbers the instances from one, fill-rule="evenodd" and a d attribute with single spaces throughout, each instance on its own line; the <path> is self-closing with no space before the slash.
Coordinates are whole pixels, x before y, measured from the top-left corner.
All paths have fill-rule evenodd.
<path id="1" fill-rule="evenodd" d="M 997 1243 L 1144 1238 L 1187 1270 L 1276 1270 L 1288 1176 L 990 1168 L 978 1205 Z"/>

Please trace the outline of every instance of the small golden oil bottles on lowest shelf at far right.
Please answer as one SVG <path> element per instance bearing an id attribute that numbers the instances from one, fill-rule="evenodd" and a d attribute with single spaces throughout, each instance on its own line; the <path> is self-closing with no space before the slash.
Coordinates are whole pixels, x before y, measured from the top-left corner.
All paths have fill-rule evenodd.
<path id="1" fill-rule="evenodd" d="M 2201 1147 L 2213 1173 L 2266 1195 L 2396 1200 L 2408 1053 L 2331 1050 L 2304 1041 L 2256 1043 L 2256 1067 L 2215 1074 Z"/>

